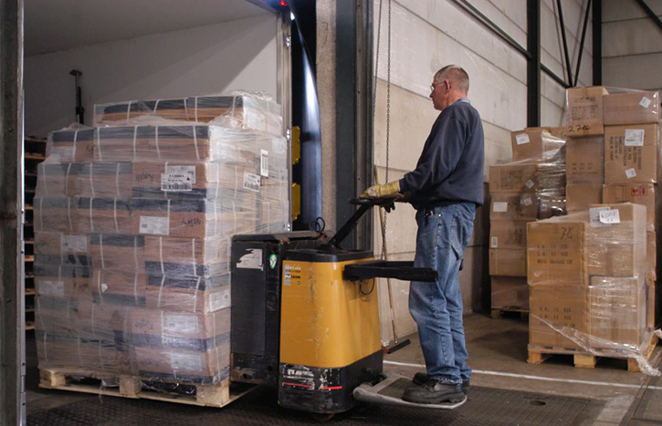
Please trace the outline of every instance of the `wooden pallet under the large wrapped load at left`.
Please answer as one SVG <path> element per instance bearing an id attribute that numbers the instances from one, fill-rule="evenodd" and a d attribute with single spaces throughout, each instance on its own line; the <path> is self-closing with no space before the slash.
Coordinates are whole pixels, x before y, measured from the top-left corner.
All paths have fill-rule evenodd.
<path id="1" fill-rule="evenodd" d="M 243 383 L 230 383 L 226 379 L 216 385 L 191 385 L 195 386 L 195 395 L 182 395 L 179 393 L 163 392 L 143 389 L 142 381 L 147 380 L 138 376 L 108 376 L 97 377 L 95 384 L 79 383 L 74 378 L 80 378 L 77 374 L 53 369 L 39 370 L 39 388 L 52 390 L 68 390 L 72 392 L 93 393 L 96 395 L 108 395 L 111 397 L 160 400 L 178 404 L 198 405 L 202 407 L 225 407 L 234 400 L 246 395 L 256 386 Z M 90 379 L 90 378 L 86 378 Z M 101 386 L 100 379 L 112 379 L 119 382 L 119 388 L 105 388 Z"/>

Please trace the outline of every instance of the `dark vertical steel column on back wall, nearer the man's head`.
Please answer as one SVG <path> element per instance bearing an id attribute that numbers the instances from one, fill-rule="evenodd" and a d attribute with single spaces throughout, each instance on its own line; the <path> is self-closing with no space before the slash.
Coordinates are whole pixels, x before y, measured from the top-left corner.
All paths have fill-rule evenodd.
<path id="1" fill-rule="evenodd" d="M 527 126 L 541 124 L 541 2 L 527 1 Z"/>

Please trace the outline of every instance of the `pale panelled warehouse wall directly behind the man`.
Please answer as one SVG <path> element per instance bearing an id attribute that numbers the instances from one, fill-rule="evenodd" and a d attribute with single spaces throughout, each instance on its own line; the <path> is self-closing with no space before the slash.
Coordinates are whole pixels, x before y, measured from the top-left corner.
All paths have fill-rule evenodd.
<path id="1" fill-rule="evenodd" d="M 375 37 L 379 3 L 378 0 L 373 1 Z M 383 3 L 374 122 L 374 159 L 379 182 L 385 181 L 386 165 L 388 1 L 383 0 Z M 526 0 L 508 2 L 471 0 L 470 3 L 521 46 L 526 47 Z M 580 53 L 579 38 L 585 4 L 585 0 L 563 0 L 562 3 L 573 73 L 576 58 Z M 556 2 L 552 0 L 544 0 L 541 5 L 542 63 L 563 77 L 561 33 L 555 18 L 558 16 L 555 5 Z M 471 80 L 468 98 L 483 119 L 486 152 L 485 182 L 487 182 L 490 164 L 510 160 L 510 131 L 523 129 L 527 124 L 526 58 L 515 48 L 497 38 L 486 26 L 452 0 L 393 1 L 391 32 L 388 181 L 400 179 L 406 171 L 415 168 L 418 155 L 438 114 L 428 98 L 429 86 L 436 70 L 452 63 L 467 70 Z M 592 83 L 591 43 L 591 21 L 589 21 L 579 84 Z M 376 48 L 376 40 L 374 46 Z M 541 125 L 562 125 L 564 99 L 564 88 L 552 78 L 542 76 Z M 398 205 L 394 213 L 387 215 L 385 241 L 390 260 L 414 258 L 416 234 L 414 217 L 415 211 L 408 205 Z M 460 273 L 465 312 L 478 310 L 481 301 L 486 296 L 489 297 L 488 222 L 487 209 L 479 209 L 474 237 L 465 252 L 465 268 Z M 382 247 L 382 235 L 376 213 L 374 223 L 374 247 L 375 252 L 379 253 Z M 393 338 L 392 317 L 395 318 L 395 327 L 400 337 L 415 332 L 415 324 L 407 309 L 409 284 L 393 280 L 393 310 L 389 307 L 386 283 L 380 283 L 378 288 L 384 340 Z"/>

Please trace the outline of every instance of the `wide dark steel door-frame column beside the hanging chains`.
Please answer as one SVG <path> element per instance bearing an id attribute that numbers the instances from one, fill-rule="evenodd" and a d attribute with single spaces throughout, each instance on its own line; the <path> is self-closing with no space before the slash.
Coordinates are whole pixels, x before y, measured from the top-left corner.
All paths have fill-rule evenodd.
<path id="1" fill-rule="evenodd" d="M 369 0 L 336 3 L 336 225 L 352 217 L 349 200 L 373 182 L 372 11 Z M 347 248 L 373 247 L 372 216 L 346 240 Z"/>

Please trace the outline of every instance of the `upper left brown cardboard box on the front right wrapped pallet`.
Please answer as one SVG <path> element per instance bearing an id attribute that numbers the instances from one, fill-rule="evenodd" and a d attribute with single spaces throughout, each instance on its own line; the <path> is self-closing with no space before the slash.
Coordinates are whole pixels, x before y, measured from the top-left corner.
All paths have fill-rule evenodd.
<path id="1" fill-rule="evenodd" d="M 527 227 L 530 285 L 588 285 L 588 223 L 542 221 Z"/>

